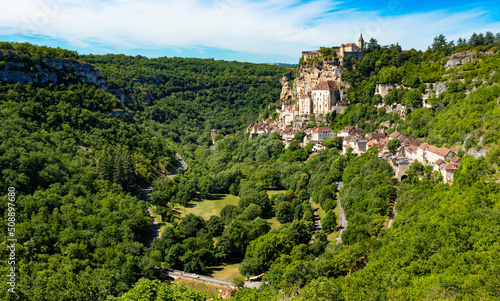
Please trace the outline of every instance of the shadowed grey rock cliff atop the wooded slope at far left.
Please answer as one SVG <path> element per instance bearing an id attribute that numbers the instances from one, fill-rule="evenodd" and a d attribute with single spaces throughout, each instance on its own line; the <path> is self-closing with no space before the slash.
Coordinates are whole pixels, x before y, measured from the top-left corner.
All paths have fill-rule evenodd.
<path id="1" fill-rule="evenodd" d="M 0 51 L 1 56 L 3 53 Z M 43 58 L 31 66 L 24 62 L 6 61 L 3 68 L 0 68 L 0 81 L 21 84 L 50 82 L 56 85 L 62 77 L 71 73 L 87 84 L 96 84 L 100 89 L 106 90 L 105 80 L 98 69 L 85 62 L 60 58 Z"/>

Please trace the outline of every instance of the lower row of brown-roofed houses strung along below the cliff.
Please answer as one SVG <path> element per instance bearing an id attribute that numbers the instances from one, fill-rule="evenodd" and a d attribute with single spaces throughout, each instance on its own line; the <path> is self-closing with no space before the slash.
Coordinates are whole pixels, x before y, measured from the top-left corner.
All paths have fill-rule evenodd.
<path id="1" fill-rule="evenodd" d="M 404 136 L 397 131 L 391 133 L 389 136 L 386 136 L 384 133 L 368 133 L 365 135 L 363 129 L 346 126 L 336 133 L 326 126 L 295 128 L 287 125 L 281 127 L 272 120 L 255 124 L 253 127 L 249 127 L 248 131 L 250 132 L 250 136 L 277 132 L 285 143 L 285 147 L 290 145 L 296 133 L 304 132 L 306 135 L 301 142 L 301 146 L 311 143 L 313 145 L 313 152 L 325 149 L 322 142 L 326 139 L 333 139 L 336 136 L 342 137 L 342 152 L 344 154 L 353 152 L 361 155 L 371 147 L 378 147 L 379 157 L 389 162 L 400 181 L 406 176 L 405 172 L 410 168 L 410 165 L 416 161 L 425 166 L 432 166 L 433 171 L 437 171 L 443 176 L 444 183 L 453 181 L 453 175 L 460 166 L 460 158 L 452 150 L 422 143 L 415 137 Z M 392 139 L 398 139 L 401 145 L 395 154 L 391 153 L 387 148 L 387 143 Z"/>

